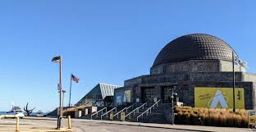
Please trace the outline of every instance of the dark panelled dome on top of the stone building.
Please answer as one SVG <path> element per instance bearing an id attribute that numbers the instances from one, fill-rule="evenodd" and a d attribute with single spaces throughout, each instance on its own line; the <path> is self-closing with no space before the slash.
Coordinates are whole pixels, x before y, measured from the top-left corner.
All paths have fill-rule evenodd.
<path id="1" fill-rule="evenodd" d="M 232 51 L 234 49 L 229 44 L 215 36 L 209 34 L 187 34 L 172 40 L 162 48 L 153 62 L 153 66 L 190 60 L 232 61 Z M 236 53 L 235 56 L 237 56 Z"/>

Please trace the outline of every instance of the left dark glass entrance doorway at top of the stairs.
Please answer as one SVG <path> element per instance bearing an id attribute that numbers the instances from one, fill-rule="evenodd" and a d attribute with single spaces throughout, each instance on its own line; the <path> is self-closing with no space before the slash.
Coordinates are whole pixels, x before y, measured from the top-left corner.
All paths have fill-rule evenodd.
<path id="1" fill-rule="evenodd" d="M 149 100 L 153 101 L 153 98 L 155 98 L 155 92 L 153 87 L 141 88 L 141 93 L 142 93 L 142 102 L 148 102 Z"/>

